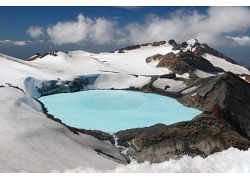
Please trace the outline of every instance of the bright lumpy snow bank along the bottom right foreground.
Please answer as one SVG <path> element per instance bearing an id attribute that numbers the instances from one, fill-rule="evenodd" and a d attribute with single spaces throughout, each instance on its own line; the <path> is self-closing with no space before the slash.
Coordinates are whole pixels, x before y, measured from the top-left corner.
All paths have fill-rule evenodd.
<path id="1" fill-rule="evenodd" d="M 58 171 L 57 171 L 58 172 Z M 179 160 L 170 159 L 159 164 L 149 162 L 120 165 L 114 170 L 98 171 L 94 168 L 79 166 L 76 169 L 66 170 L 67 173 L 83 172 L 110 172 L 110 173 L 249 173 L 250 149 L 240 151 L 229 148 L 202 158 L 196 156 L 184 156 Z"/>

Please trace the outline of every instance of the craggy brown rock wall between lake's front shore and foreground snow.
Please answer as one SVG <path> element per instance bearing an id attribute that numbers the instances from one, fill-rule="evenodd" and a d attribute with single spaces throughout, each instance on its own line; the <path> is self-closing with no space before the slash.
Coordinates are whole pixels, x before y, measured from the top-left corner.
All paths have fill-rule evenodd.
<path id="1" fill-rule="evenodd" d="M 154 130 L 155 129 L 155 130 Z M 140 132 L 140 130 L 138 130 Z M 118 132 L 123 145 L 124 132 Z M 161 128 L 151 127 L 138 135 L 130 131 L 128 153 L 139 162 L 160 163 L 170 158 L 179 159 L 183 155 L 206 157 L 231 146 L 247 150 L 248 139 L 242 137 L 223 119 L 204 113 L 192 121 L 181 122 Z M 128 140 L 128 139 L 126 139 Z M 126 141 L 125 140 L 125 141 Z"/>

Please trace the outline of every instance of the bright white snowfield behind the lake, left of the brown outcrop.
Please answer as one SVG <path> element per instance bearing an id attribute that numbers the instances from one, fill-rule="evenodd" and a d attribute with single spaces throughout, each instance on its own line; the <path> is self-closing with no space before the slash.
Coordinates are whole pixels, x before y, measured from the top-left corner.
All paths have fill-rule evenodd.
<path id="1" fill-rule="evenodd" d="M 113 74 L 121 76 L 125 81 L 141 82 L 133 75 L 156 75 L 169 73 L 166 68 L 156 68 L 148 65 L 145 58 L 155 53 L 167 53 L 171 50 L 169 45 L 160 47 L 144 47 L 126 53 L 100 53 L 93 54 L 85 51 L 57 52 L 56 56 L 46 55 L 33 61 L 24 61 L 9 56 L 0 56 L 0 85 L 10 83 L 21 89 L 26 89 L 26 78 L 32 77 L 40 81 L 71 80 L 77 76 L 88 74 Z M 110 76 L 112 82 L 113 76 Z M 108 81 L 108 76 L 105 79 Z M 142 79 L 145 79 L 142 77 Z M 143 81 L 143 80 L 142 80 Z M 112 82 L 113 83 L 113 82 Z M 128 88 L 126 84 L 120 88 Z M 128 82 L 131 84 L 130 82 Z M 98 86 L 100 87 L 100 86 Z M 119 85 L 115 85 L 119 88 Z"/>

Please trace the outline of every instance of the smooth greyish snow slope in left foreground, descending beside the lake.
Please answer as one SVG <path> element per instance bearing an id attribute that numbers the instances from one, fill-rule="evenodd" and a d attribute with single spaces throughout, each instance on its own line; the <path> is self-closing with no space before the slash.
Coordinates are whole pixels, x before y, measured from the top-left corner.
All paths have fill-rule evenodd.
<path id="1" fill-rule="evenodd" d="M 48 119 L 40 104 L 21 90 L 0 88 L 0 114 L 0 172 L 62 171 L 82 165 L 107 170 L 126 162 L 111 143 L 74 134 Z"/>

